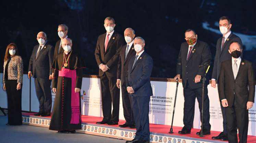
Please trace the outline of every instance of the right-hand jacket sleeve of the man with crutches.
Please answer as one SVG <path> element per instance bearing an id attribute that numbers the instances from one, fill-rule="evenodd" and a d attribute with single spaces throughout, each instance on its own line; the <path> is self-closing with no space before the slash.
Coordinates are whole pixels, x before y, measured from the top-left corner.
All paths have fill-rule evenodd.
<path id="1" fill-rule="evenodd" d="M 208 44 L 205 44 L 203 48 L 201 59 L 202 59 L 202 62 L 200 63 L 200 65 L 202 66 L 198 67 L 197 75 L 204 76 L 207 68 L 207 66 L 204 66 L 204 65 L 210 64 L 210 61 L 211 61 L 211 51 Z"/>

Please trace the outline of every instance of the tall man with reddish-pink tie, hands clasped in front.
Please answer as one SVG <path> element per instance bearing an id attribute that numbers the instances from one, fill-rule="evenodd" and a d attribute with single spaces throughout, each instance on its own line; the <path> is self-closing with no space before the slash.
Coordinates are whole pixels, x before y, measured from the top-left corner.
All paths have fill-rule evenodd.
<path id="1" fill-rule="evenodd" d="M 99 66 L 103 110 L 103 120 L 97 124 L 118 125 L 120 90 L 115 83 L 117 82 L 119 48 L 124 45 L 124 39 L 122 35 L 114 31 L 115 21 L 112 17 L 107 17 L 104 20 L 104 27 L 107 33 L 99 35 L 95 49 L 95 59 Z"/>

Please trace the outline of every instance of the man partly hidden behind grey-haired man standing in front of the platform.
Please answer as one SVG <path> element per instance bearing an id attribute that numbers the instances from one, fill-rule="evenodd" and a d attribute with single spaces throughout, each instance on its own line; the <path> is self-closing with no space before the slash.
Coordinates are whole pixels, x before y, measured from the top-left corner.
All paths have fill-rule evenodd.
<path id="1" fill-rule="evenodd" d="M 123 112 L 125 118 L 125 124 L 119 125 L 119 127 L 125 128 L 135 128 L 134 117 L 131 108 L 131 96 L 129 96 L 126 90 L 126 75 L 128 71 L 129 61 L 131 57 L 135 55 L 135 50 L 133 46 L 133 39 L 135 37 L 135 32 L 132 28 L 126 28 L 124 31 L 124 39 L 126 41 L 126 45 L 120 48 L 119 54 L 119 62 L 117 69 L 117 87 L 120 89 L 120 80 L 121 80 L 121 88 L 122 88 L 122 101 L 123 101 Z"/>

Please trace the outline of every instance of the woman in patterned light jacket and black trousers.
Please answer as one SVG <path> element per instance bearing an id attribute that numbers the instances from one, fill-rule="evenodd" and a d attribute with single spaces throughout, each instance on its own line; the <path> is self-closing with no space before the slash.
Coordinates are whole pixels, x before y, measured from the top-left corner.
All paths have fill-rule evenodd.
<path id="1" fill-rule="evenodd" d="M 6 125 L 22 125 L 22 77 L 22 59 L 18 55 L 17 46 L 10 43 L 6 48 L 3 63 L 3 90 L 7 92 L 8 99 L 8 123 Z"/>

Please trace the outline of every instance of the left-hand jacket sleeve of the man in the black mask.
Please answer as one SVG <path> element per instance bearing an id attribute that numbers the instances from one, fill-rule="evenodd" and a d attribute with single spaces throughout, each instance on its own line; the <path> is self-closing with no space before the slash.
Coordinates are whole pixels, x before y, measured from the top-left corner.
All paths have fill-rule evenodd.
<path id="1" fill-rule="evenodd" d="M 220 65 L 220 75 L 219 75 L 219 99 L 227 99 L 225 96 L 225 72 L 223 63 Z"/>

